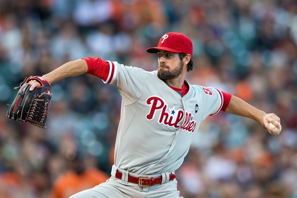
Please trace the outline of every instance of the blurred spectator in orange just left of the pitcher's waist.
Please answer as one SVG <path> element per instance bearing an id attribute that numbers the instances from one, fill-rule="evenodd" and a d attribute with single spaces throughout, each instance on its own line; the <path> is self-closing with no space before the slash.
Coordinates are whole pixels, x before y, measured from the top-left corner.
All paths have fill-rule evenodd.
<path id="1" fill-rule="evenodd" d="M 73 141 L 70 134 L 61 140 L 59 151 L 66 161 L 66 170 L 53 181 L 50 198 L 68 198 L 105 182 L 109 177 L 96 168 L 92 156 L 82 155 Z"/>

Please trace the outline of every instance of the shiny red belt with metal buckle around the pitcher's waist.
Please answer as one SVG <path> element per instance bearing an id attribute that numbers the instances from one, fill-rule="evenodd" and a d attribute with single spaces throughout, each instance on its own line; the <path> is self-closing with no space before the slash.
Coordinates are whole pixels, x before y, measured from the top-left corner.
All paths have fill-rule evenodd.
<path id="1" fill-rule="evenodd" d="M 118 179 L 122 179 L 122 172 L 116 171 L 115 177 Z M 169 174 L 169 181 L 175 179 L 175 174 Z M 128 182 L 138 184 L 140 187 L 148 187 L 153 186 L 155 184 L 161 184 L 162 183 L 162 176 L 160 177 L 133 177 L 131 175 L 128 175 Z"/>

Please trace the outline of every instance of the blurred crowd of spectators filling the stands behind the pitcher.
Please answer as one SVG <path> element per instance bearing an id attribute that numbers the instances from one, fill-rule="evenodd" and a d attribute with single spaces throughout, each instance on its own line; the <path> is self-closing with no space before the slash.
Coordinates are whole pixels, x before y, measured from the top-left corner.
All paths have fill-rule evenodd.
<path id="1" fill-rule="evenodd" d="M 190 83 L 282 124 L 272 136 L 247 118 L 206 118 L 176 172 L 181 196 L 297 198 L 296 0 L 0 0 L 0 198 L 64 198 L 96 171 L 106 179 L 119 121 L 116 89 L 91 75 L 52 84 L 48 129 L 5 116 L 14 87 L 88 56 L 154 70 L 146 49 L 170 31 L 193 41 Z"/>

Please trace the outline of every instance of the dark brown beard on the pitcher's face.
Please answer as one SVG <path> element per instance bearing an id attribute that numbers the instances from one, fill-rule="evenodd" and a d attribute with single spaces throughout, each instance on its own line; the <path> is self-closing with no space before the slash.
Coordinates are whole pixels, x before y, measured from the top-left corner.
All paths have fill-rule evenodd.
<path id="1" fill-rule="evenodd" d="M 167 69 L 164 69 L 167 68 Z M 174 70 L 170 71 L 170 67 L 165 64 L 160 64 L 158 68 L 158 77 L 161 80 L 170 80 L 178 77 L 183 71 L 183 62 L 179 62 L 179 67 L 175 68 Z"/>

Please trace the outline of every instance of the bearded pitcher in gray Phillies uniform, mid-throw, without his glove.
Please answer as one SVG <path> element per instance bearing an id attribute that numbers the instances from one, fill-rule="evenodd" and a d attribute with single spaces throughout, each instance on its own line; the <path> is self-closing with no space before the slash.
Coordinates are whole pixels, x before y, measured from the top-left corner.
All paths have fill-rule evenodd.
<path id="1" fill-rule="evenodd" d="M 92 74 L 113 85 L 122 97 L 111 177 L 71 198 L 181 198 L 175 170 L 183 163 L 200 123 L 220 110 L 269 123 L 280 118 L 216 88 L 191 85 L 192 41 L 181 33 L 164 34 L 157 47 L 158 69 L 145 71 L 115 61 L 88 57 L 70 61 L 43 76 L 50 84 Z M 39 85 L 30 82 L 31 90 Z"/>

